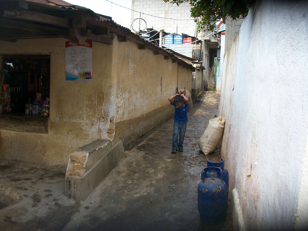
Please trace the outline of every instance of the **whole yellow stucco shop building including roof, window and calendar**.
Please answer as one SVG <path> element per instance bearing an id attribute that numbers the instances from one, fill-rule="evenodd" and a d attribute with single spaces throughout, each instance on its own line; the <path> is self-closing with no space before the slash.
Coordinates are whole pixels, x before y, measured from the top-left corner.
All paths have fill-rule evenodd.
<path id="1" fill-rule="evenodd" d="M 0 159 L 65 166 L 97 140 L 129 148 L 172 114 L 168 92 L 190 90 L 190 64 L 107 16 L 57 2 L 2 5 Z M 149 107 L 143 96 L 157 92 Z"/>

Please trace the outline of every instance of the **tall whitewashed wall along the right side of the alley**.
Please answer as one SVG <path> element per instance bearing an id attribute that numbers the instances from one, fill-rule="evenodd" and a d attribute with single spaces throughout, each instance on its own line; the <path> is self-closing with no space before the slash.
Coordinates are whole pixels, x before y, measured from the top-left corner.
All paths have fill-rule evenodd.
<path id="1" fill-rule="evenodd" d="M 246 230 L 308 228 L 307 10 L 257 2 L 225 55 L 221 151 Z"/>

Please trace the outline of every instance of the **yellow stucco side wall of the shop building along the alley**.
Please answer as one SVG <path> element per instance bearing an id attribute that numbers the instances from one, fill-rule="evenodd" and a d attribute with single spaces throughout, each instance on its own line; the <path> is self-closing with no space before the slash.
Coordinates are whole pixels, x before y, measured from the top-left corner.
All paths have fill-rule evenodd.
<path id="1" fill-rule="evenodd" d="M 115 44 L 114 44 L 115 45 Z M 175 88 L 191 91 L 192 71 L 139 50 L 130 41 L 118 43 L 115 138 L 131 148 L 158 124 L 171 118 L 174 108 L 168 97 Z"/>

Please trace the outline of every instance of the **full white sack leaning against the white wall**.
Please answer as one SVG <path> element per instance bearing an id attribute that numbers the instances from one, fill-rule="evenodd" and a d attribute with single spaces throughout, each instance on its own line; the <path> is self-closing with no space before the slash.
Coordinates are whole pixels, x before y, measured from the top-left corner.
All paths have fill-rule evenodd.
<path id="1" fill-rule="evenodd" d="M 225 129 L 225 118 L 223 116 L 209 120 L 203 135 L 199 139 L 199 148 L 205 155 L 214 152 L 217 148 Z"/>

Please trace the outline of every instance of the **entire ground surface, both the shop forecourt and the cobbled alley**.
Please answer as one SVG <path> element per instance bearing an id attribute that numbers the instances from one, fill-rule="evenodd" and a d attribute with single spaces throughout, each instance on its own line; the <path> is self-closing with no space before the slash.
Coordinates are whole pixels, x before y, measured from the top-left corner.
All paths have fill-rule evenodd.
<path id="1" fill-rule="evenodd" d="M 197 209 L 206 159 L 220 160 L 219 152 L 202 155 L 197 144 L 218 113 L 219 98 L 218 92 L 205 92 L 188 113 L 183 153 L 171 153 L 169 120 L 131 149 L 80 204 L 64 195 L 63 167 L 0 161 L 0 187 L 19 198 L 0 207 L 0 230 L 233 230 L 229 213 L 222 224 L 209 226 Z"/>

